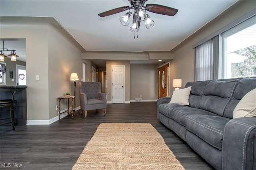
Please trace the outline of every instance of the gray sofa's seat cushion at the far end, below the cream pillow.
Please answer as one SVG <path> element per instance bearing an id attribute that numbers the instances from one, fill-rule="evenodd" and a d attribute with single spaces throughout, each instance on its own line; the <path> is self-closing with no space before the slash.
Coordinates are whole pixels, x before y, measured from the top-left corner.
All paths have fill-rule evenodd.
<path id="1" fill-rule="evenodd" d="M 158 107 L 158 111 L 162 113 L 163 115 L 174 119 L 178 123 L 185 126 L 185 119 L 186 117 L 194 114 L 201 114 L 201 115 L 216 115 L 210 111 L 184 106 L 184 105 L 178 105 L 178 104 L 161 104 Z"/>

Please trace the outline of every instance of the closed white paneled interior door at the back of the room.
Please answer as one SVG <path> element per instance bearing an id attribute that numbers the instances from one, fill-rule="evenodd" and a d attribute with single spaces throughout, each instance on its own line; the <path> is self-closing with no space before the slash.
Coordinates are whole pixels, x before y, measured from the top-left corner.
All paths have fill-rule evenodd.
<path id="1" fill-rule="evenodd" d="M 112 66 L 112 103 L 124 103 L 124 66 Z"/>

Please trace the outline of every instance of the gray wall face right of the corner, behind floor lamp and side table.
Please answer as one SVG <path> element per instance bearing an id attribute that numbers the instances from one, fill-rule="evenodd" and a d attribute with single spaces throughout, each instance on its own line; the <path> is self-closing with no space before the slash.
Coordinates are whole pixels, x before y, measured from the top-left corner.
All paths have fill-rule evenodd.
<path id="1" fill-rule="evenodd" d="M 58 96 L 70 92 L 74 96 L 74 81 L 70 81 L 70 74 L 77 73 L 82 80 L 81 51 L 65 34 L 60 32 L 61 27 L 48 27 L 48 77 L 49 77 L 49 113 L 50 119 L 56 116 Z M 78 81 L 79 81 L 78 80 Z M 78 81 L 76 81 L 76 106 L 80 106 Z M 54 102 L 53 102 L 54 101 Z M 66 101 L 62 101 L 63 108 L 67 108 Z M 55 110 L 55 111 L 54 111 Z"/>

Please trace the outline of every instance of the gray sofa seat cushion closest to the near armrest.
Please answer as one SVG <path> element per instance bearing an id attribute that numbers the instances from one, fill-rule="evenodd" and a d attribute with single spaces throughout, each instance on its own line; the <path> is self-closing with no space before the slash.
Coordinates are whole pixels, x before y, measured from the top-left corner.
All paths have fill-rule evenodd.
<path id="1" fill-rule="evenodd" d="M 222 139 L 225 125 L 229 118 L 211 115 L 190 115 L 186 118 L 186 129 L 206 143 L 222 150 Z"/>

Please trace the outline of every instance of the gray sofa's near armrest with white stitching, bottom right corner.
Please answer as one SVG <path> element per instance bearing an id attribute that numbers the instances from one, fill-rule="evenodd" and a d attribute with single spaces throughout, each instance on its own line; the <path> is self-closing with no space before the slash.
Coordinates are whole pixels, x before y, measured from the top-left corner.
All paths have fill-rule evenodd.
<path id="1" fill-rule="evenodd" d="M 223 170 L 252 170 L 256 166 L 256 117 L 231 119 L 222 144 Z"/>

